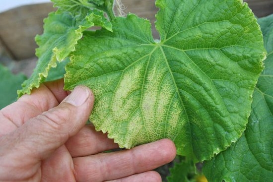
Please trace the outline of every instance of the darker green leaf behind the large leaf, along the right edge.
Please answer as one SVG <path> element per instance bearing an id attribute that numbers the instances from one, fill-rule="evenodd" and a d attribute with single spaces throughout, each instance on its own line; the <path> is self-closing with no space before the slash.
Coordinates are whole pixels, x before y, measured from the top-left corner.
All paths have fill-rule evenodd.
<path id="1" fill-rule="evenodd" d="M 273 15 L 260 18 L 268 58 L 253 94 L 243 136 L 213 160 L 204 173 L 214 182 L 271 182 L 273 179 Z"/>

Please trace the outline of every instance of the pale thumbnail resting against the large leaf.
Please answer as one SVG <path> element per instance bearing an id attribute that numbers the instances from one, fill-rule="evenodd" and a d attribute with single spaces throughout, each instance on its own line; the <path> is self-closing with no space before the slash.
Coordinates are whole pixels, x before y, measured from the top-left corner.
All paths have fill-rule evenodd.
<path id="1" fill-rule="evenodd" d="M 82 86 L 76 86 L 74 90 L 68 95 L 66 100 L 67 103 L 72 104 L 73 106 L 81 106 L 89 97 L 89 92 L 87 88 Z"/>

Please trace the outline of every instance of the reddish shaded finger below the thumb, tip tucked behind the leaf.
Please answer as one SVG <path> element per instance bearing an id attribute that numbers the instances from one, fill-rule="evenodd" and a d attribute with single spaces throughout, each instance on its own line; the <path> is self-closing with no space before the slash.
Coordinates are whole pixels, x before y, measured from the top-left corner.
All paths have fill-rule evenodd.
<path id="1" fill-rule="evenodd" d="M 69 138 L 66 146 L 72 157 L 88 156 L 119 147 L 107 134 L 96 131 L 92 124 L 85 125 Z"/>

